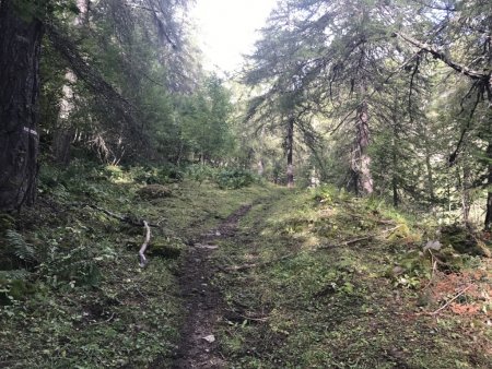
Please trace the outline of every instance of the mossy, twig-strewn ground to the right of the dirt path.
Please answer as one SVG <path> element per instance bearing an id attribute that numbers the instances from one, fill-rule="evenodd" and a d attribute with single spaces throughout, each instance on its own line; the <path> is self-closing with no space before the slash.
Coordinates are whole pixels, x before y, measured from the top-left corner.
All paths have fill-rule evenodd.
<path id="1" fill-rule="evenodd" d="M 422 305 L 423 294 L 449 286 L 438 271 L 427 285 L 432 265 L 418 251 L 425 237 L 424 222 L 333 190 L 256 205 L 215 253 L 219 265 L 257 265 L 215 277 L 227 305 L 219 340 L 229 367 L 490 368 L 490 295 L 432 314 L 464 283 L 490 286 L 490 264 L 469 258 L 481 279 L 464 267 L 456 288 Z M 477 314 L 455 313 L 471 300 Z"/>

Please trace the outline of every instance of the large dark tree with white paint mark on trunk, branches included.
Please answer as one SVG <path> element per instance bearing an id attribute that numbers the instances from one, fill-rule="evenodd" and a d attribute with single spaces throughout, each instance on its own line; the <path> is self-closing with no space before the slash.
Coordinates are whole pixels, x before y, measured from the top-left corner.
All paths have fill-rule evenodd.
<path id="1" fill-rule="evenodd" d="M 183 9 L 187 5 L 186 0 L 103 0 L 92 2 L 89 7 L 90 3 L 82 0 L 78 3 L 71 0 L 0 2 L 0 210 L 12 211 L 35 200 L 39 142 L 39 63 L 45 33 L 48 36 L 45 40 L 50 46 L 47 49 L 63 60 L 65 66 L 58 72 L 65 75 L 69 70 L 73 73 L 70 88 L 73 91 L 72 95 L 77 94 L 78 106 L 70 107 L 70 117 L 66 114 L 65 118 L 72 119 L 78 109 L 89 108 L 90 112 L 86 110 L 84 116 L 90 122 L 87 127 L 92 134 L 91 142 L 96 143 L 99 150 L 106 151 L 105 155 L 109 153 L 107 156 L 113 156 L 113 159 L 121 158 L 124 153 L 137 152 L 128 147 L 140 146 L 140 151 L 145 152 L 148 145 L 142 142 L 149 133 L 142 130 L 140 123 L 144 121 L 144 115 L 141 114 L 144 109 L 141 105 L 133 104 L 131 98 L 140 96 L 140 91 L 136 87 L 142 86 L 143 80 L 152 80 L 150 74 L 153 74 L 154 66 L 162 67 L 167 63 L 166 90 L 180 88 L 184 81 L 194 78 L 191 69 L 186 76 L 181 76 L 184 60 L 191 58 L 185 58 L 178 52 L 187 51 L 181 43 L 186 38 L 186 32 L 179 22 L 184 14 Z M 77 4 L 83 8 L 83 12 Z M 80 14 L 77 24 L 70 22 L 74 14 Z M 91 44 L 84 40 L 92 38 L 79 37 L 80 32 L 74 29 L 75 25 L 90 22 L 96 22 L 98 27 L 87 26 L 83 32 L 91 29 L 91 36 L 101 37 L 99 39 L 105 41 Z M 110 29 L 116 33 L 114 36 L 105 34 L 109 28 L 104 27 L 112 22 Z M 154 51 L 149 61 L 142 62 L 145 68 L 139 70 L 134 68 L 139 64 L 137 52 L 132 51 L 142 39 L 148 41 L 141 43 L 148 47 L 148 51 Z M 152 47 L 150 40 L 159 40 L 166 47 Z M 98 68 L 101 66 L 94 60 L 97 53 L 95 50 L 108 46 L 113 47 L 114 53 L 99 49 L 97 56 L 103 60 L 104 57 L 116 56 L 118 61 L 124 61 L 124 66 L 128 67 L 125 69 L 127 74 L 120 71 L 115 73 L 115 66 L 112 66 L 113 72 L 109 68 Z M 173 62 L 169 63 L 168 60 Z M 162 70 L 163 68 L 160 72 Z M 129 83 L 130 78 L 127 76 L 136 75 L 138 78 L 132 82 L 138 83 Z M 68 86 L 67 83 L 65 85 Z M 52 87 L 61 90 L 62 84 Z M 60 93 L 52 91 L 50 94 L 60 96 Z M 84 98 L 80 98 L 82 95 Z M 138 102 L 138 98 L 136 100 Z M 51 112 L 54 110 L 56 108 L 43 109 Z M 61 112 L 63 115 L 63 111 Z M 71 127 L 71 123 L 63 126 Z M 59 133 L 56 128 L 56 124 L 45 127 L 51 134 L 55 131 L 55 135 Z M 103 132 L 110 132 L 109 138 Z"/>

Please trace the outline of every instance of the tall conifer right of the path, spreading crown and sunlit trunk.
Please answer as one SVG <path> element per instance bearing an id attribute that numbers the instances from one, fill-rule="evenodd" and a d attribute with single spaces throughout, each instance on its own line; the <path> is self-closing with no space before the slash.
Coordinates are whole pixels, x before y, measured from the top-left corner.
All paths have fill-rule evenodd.
<path id="1" fill-rule="evenodd" d="M 359 194 L 373 192 L 371 120 L 380 87 L 391 74 L 388 60 L 398 69 L 403 59 L 388 43 L 393 25 L 380 16 L 380 7 L 363 0 L 279 2 L 246 78 L 268 88 L 251 100 L 251 110 L 260 117 L 266 116 L 262 106 L 291 94 L 293 107 L 304 116 L 324 116 L 332 131 L 352 126 L 349 166 Z"/>

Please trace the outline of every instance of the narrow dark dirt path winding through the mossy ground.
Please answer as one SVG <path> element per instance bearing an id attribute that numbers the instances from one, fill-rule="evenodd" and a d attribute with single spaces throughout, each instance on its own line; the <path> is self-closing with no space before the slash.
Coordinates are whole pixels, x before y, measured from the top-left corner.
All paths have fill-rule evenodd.
<path id="1" fill-rule="evenodd" d="M 214 325 L 222 316 L 222 300 L 220 291 L 210 284 L 214 273 L 210 255 L 218 248 L 216 240 L 235 236 L 238 221 L 250 209 L 251 205 L 241 207 L 218 228 L 202 235 L 186 255 L 179 283 L 188 316 L 173 368 L 225 367 L 213 335 Z"/>

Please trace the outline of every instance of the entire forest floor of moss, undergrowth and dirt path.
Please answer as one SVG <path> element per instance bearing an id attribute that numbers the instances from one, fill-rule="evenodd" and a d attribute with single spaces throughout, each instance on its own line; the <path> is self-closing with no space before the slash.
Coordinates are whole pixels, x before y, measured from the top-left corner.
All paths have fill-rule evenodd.
<path id="1" fill-rule="evenodd" d="M 139 170 L 42 175 L 36 207 L 0 219 L 37 259 L 0 272 L 0 368 L 491 368 L 491 261 L 425 250 L 432 219 Z M 153 225 L 144 269 L 115 214 Z"/>

